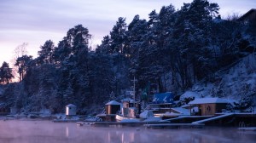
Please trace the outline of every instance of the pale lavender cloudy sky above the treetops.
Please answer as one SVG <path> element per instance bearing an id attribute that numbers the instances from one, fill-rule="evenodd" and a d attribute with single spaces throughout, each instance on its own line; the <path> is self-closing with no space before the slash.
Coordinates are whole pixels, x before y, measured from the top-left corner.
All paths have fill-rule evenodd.
<path id="1" fill-rule="evenodd" d="M 256 8 L 255 0 L 208 0 L 218 3 L 220 14 L 245 14 Z M 3 61 L 13 65 L 15 49 L 27 43 L 27 54 L 38 56 L 40 46 L 52 40 L 55 46 L 73 26 L 89 29 L 90 45 L 100 44 L 119 17 L 129 25 L 136 14 L 148 20 L 152 10 L 172 3 L 180 9 L 192 0 L 0 0 L 0 66 Z"/>

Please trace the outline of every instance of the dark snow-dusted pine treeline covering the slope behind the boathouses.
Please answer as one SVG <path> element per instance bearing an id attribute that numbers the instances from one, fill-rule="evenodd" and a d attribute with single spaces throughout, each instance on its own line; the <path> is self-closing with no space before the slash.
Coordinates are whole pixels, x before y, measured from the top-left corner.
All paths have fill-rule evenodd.
<path id="1" fill-rule="evenodd" d="M 73 103 L 88 113 L 91 106 L 131 89 L 133 77 L 137 99 L 147 85 L 146 92 L 181 94 L 198 81 L 213 82 L 214 72 L 253 52 L 255 43 L 255 36 L 243 36 L 249 25 L 222 20 L 218 9 L 217 3 L 194 0 L 179 10 L 172 4 L 159 14 L 153 10 L 148 20 L 136 15 L 126 24 L 120 17 L 95 50 L 89 46 L 89 30 L 74 26 L 57 45 L 46 41 L 38 58 L 25 54 L 16 59 L 20 83 L 3 76 L 9 66 L 3 63 L 1 82 L 9 84 L 1 98 L 6 106 L 26 111 L 62 112 Z"/>

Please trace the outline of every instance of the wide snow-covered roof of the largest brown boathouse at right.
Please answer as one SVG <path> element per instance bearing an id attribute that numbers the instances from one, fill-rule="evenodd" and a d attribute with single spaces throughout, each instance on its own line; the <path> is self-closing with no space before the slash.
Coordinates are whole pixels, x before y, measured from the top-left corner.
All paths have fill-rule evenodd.
<path id="1" fill-rule="evenodd" d="M 207 103 L 230 103 L 230 101 L 226 99 L 221 99 L 221 98 L 200 98 L 200 99 L 195 99 L 190 101 L 189 105 L 207 104 Z"/>

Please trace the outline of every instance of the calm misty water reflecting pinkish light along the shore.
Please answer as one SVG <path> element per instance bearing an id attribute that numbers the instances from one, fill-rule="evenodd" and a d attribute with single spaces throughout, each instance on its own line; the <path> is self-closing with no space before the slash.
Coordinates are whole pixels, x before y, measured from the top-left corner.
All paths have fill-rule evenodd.
<path id="1" fill-rule="evenodd" d="M 250 143 L 256 132 L 236 128 L 145 129 L 79 127 L 50 121 L 0 121 L 0 143 Z"/>

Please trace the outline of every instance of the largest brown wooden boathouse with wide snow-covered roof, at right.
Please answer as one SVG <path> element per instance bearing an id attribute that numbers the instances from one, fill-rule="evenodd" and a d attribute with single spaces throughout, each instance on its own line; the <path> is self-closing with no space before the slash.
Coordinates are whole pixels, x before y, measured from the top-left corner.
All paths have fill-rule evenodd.
<path id="1" fill-rule="evenodd" d="M 230 104 L 229 100 L 221 98 L 200 98 L 189 102 L 190 114 L 198 116 L 215 115 L 222 112 Z"/>

